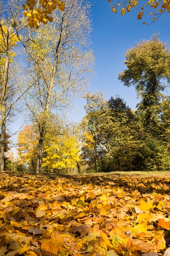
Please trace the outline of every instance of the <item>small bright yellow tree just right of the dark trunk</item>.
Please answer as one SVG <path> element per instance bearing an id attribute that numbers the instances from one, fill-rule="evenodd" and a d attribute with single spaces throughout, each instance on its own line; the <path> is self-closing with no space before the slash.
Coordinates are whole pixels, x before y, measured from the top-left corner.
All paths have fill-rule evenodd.
<path id="1" fill-rule="evenodd" d="M 48 171 L 73 169 L 78 161 L 79 142 L 73 128 L 60 127 L 59 129 L 57 125 L 53 133 L 46 133 L 42 167 L 46 167 Z"/>

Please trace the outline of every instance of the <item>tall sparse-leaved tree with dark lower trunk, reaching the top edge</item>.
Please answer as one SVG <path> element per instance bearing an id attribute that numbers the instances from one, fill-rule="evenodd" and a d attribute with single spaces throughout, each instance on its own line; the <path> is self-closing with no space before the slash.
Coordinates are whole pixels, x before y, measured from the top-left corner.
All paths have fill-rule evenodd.
<path id="1" fill-rule="evenodd" d="M 44 138 L 53 112 L 81 94 L 93 71 L 93 52 L 86 48 L 89 11 L 83 0 L 67 0 L 64 11 L 53 11 L 54 22 L 30 31 L 29 40 L 22 42 L 29 56 L 29 80 L 34 83 L 24 99 L 39 126 L 36 173 L 41 172 Z"/>

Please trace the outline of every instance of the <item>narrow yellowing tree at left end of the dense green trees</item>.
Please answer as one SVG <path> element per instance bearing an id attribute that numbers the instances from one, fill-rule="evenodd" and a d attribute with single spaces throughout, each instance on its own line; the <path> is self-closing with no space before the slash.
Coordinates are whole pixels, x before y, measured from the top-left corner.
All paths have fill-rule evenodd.
<path id="1" fill-rule="evenodd" d="M 101 134 L 103 111 L 106 108 L 106 101 L 101 92 L 83 96 L 87 104 L 84 106 L 86 116 L 83 118 L 80 129 L 82 130 L 82 153 L 81 159 L 88 164 L 91 170 L 99 170 L 99 161 L 104 155 L 105 141 Z"/>

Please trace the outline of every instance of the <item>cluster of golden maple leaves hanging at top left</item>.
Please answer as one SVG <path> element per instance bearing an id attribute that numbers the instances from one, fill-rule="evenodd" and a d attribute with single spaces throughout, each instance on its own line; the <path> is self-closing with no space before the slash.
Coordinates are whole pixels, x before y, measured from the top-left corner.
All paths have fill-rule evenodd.
<path id="1" fill-rule="evenodd" d="M 64 10 L 64 2 L 61 0 L 27 0 L 26 5 L 23 4 L 24 16 L 28 20 L 29 27 L 40 26 L 40 22 L 46 24 L 49 20 L 53 21 L 51 16 L 54 9 Z"/>

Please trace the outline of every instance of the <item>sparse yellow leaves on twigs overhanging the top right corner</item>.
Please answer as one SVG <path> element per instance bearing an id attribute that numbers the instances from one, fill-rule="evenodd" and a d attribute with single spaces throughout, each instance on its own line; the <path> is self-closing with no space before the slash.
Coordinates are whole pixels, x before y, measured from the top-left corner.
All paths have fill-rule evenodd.
<path id="1" fill-rule="evenodd" d="M 113 0 L 108 0 L 108 2 L 112 2 Z M 149 0 L 147 2 L 147 4 L 155 10 L 155 12 L 150 12 L 150 15 L 160 15 L 161 13 L 163 13 L 164 11 L 167 11 L 168 13 L 170 13 L 170 2 L 169 0 Z M 135 9 L 138 10 L 138 14 L 137 14 L 137 19 L 140 20 L 143 16 L 144 16 L 144 7 L 145 4 L 141 4 L 139 3 L 138 0 L 128 0 L 127 2 L 120 2 L 118 0 L 118 2 L 116 4 L 113 4 L 112 6 L 112 11 L 114 13 L 117 13 L 117 9 L 118 7 L 121 7 L 120 12 L 121 15 L 124 15 L 126 12 L 129 12 L 133 7 L 135 7 Z M 152 18 L 153 21 L 156 20 L 155 17 Z M 145 22 L 143 23 L 145 24 Z"/>

